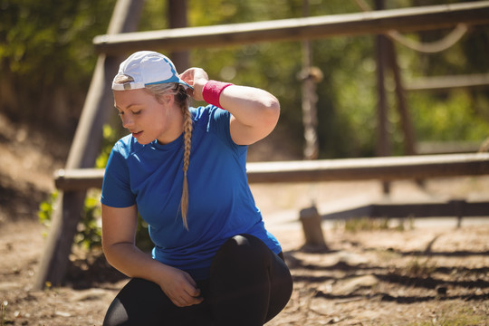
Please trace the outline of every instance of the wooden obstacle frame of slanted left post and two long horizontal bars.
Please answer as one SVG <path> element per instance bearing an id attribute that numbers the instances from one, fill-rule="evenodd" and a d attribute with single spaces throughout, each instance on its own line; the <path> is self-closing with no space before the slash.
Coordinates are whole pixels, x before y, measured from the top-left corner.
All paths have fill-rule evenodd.
<path id="1" fill-rule="evenodd" d="M 304 39 L 319 39 L 335 36 L 353 36 L 360 34 L 385 34 L 395 29 L 400 32 L 415 32 L 453 27 L 455 24 L 489 24 L 489 1 L 455 5 L 434 5 L 398 10 L 382 10 L 361 14 L 337 14 L 320 17 L 257 22 L 247 24 L 228 24 L 206 27 L 178 28 L 157 32 L 129 32 L 134 21 L 138 19 L 141 1 L 118 0 L 112 15 L 107 35 L 94 39 L 96 50 L 101 53 L 91 82 L 82 117 L 73 139 L 72 148 L 64 173 L 55 178 L 57 186 L 62 190 L 59 207 L 53 217 L 53 225 L 48 237 L 48 245 L 43 254 L 40 271 L 36 276 L 34 288 L 41 289 L 46 282 L 53 285 L 62 283 L 68 255 L 71 252 L 72 237 L 80 219 L 80 212 L 85 197 L 85 190 L 92 187 L 93 182 L 101 187 L 102 171 L 92 169 L 79 170 L 93 166 L 96 148 L 91 144 L 101 139 L 101 125 L 107 119 L 103 110 L 109 101 L 108 85 L 110 76 L 117 69 L 116 56 L 137 50 L 166 49 L 179 51 L 197 47 L 216 47 L 243 45 L 246 43 L 277 42 Z M 135 9 L 138 8 L 138 9 Z M 93 139 L 89 141 L 91 136 Z M 95 138 L 99 139 L 95 139 Z M 479 157 L 480 158 L 480 157 Z M 364 159 L 364 158 L 360 158 Z M 390 158 L 389 158 L 390 159 Z M 413 165 L 406 171 L 391 161 L 391 166 L 384 168 L 365 166 L 348 168 L 348 161 L 337 163 L 318 161 L 323 166 L 311 166 L 310 162 L 283 162 L 267 165 L 256 163 L 248 165 L 250 182 L 313 182 L 334 179 L 385 179 L 408 178 L 415 173 Z M 360 162 L 357 161 L 357 162 Z M 369 161 L 365 161 L 369 162 Z M 371 161 L 370 161 L 371 162 Z M 343 163 L 347 167 L 340 168 L 336 164 Z M 378 162 L 380 163 L 380 162 Z M 330 164 L 330 165 L 328 165 Z M 437 165 L 436 165 L 437 164 Z M 431 174 L 441 176 L 481 175 L 487 174 L 487 162 L 468 161 L 454 162 L 454 169 L 447 170 L 442 162 L 430 166 Z M 458 168 L 455 168 L 457 166 Z M 480 168 L 480 167 L 483 168 Z M 464 168 L 465 167 L 465 168 Z M 273 171 L 271 168 L 280 168 Z M 337 168 L 335 170 L 335 168 Z M 393 176 L 398 171 L 397 177 Z M 419 170 L 418 170 L 419 171 Z M 458 171 L 458 172 L 455 172 Z M 426 173 L 425 173 L 426 174 Z M 429 174 L 429 173 L 428 173 Z M 377 177 L 373 177 L 373 176 Z M 441 177 L 440 176 L 440 177 Z"/>

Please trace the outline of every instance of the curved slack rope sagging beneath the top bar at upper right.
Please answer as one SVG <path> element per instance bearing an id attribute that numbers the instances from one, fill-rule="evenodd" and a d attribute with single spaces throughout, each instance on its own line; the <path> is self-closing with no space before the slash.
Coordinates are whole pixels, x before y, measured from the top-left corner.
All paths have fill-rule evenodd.
<path id="1" fill-rule="evenodd" d="M 360 6 L 361 10 L 364 12 L 369 12 L 372 11 L 372 8 L 370 8 L 369 4 L 367 4 L 364 0 L 355 0 L 357 5 Z M 468 27 L 466 24 L 457 24 L 455 29 L 450 32 L 450 34 L 447 34 L 443 39 L 431 42 L 431 43 L 421 43 L 418 41 L 415 41 L 413 39 L 410 39 L 403 34 L 400 34 L 398 31 L 391 30 L 388 31 L 387 35 L 390 39 L 393 41 L 396 41 L 406 47 L 408 47 L 411 50 L 420 52 L 420 53 L 439 53 L 442 51 L 445 51 L 446 49 L 452 47 L 460 41 L 460 39 L 465 35 L 467 32 Z"/>

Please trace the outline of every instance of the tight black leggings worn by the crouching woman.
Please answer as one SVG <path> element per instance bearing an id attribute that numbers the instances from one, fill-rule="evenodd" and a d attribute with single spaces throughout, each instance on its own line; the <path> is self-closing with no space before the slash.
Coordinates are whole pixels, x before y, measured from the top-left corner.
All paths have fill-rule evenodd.
<path id="1" fill-rule="evenodd" d="M 277 255 L 253 235 L 227 240 L 210 278 L 197 281 L 204 301 L 179 308 L 156 283 L 132 279 L 110 304 L 104 326 L 262 326 L 289 301 L 292 277 Z"/>

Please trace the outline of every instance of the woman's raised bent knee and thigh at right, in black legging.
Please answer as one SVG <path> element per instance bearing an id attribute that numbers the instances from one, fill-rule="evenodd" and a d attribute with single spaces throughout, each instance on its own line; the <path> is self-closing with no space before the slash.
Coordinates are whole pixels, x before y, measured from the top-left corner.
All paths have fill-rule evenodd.
<path id="1" fill-rule="evenodd" d="M 216 325 L 263 325 L 289 301 L 292 276 L 260 239 L 236 235 L 217 252 L 209 286 Z"/>

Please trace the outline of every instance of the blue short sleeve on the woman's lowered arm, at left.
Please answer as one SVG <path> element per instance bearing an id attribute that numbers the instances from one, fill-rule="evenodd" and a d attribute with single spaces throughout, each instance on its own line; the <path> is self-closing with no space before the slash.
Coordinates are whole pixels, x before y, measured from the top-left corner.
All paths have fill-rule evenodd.
<path id="1" fill-rule="evenodd" d="M 120 144 L 110 152 L 105 168 L 101 191 L 101 203 L 111 207 L 129 207 L 136 204 L 136 197 L 130 189 L 129 169 L 126 159 L 120 153 Z"/>

